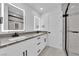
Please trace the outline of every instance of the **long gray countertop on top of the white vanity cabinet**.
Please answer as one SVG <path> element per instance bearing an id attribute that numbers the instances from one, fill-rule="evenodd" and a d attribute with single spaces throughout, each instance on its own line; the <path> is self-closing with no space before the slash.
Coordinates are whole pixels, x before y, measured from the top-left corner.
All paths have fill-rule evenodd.
<path id="1" fill-rule="evenodd" d="M 47 33 L 40 32 L 40 33 L 24 34 L 24 35 L 21 35 L 18 37 L 4 37 L 4 38 L 2 37 L 2 38 L 0 38 L 1 39 L 0 48 L 15 44 L 15 43 L 19 43 L 19 42 L 22 42 L 22 41 L 25 41 L 25 40 L 28 40 L 28 39 L 31 39 L 31 38 L 34 38 L 34 37 L 37 37 L 40 35 L 44 35 L 44 34 L 47 34 Z"/>

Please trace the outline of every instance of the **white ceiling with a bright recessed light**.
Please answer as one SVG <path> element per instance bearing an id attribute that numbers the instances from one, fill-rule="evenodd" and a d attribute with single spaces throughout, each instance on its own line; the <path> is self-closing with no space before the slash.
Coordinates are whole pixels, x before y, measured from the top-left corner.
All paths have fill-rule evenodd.
<path id="1" fill-rule="evenodd" d="M 26 5 L 35 9 L 40 14 L 53 11 L 59 4 L 60 3 L 26 3 Z"/>

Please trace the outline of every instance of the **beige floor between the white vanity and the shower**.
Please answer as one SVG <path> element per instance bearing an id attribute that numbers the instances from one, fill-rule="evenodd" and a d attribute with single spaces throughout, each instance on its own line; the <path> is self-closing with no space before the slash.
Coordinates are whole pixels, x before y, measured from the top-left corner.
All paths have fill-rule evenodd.
<path id="1" fill-rule="evenodd" d="M 39 56 L 66 56 L 66 54 L 62 49 L 46 47 Z"/>

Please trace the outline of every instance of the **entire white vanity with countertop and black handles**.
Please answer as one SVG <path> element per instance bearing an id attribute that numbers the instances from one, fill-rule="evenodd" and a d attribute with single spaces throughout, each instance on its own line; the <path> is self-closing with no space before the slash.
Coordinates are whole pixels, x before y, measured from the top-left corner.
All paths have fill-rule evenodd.
<path id="1" fill-rule="evenodd" d="M 4 37 L 0 44 L 0 56 L 37 56 L 46 47 L 46 43 L 47 33 Z"/>

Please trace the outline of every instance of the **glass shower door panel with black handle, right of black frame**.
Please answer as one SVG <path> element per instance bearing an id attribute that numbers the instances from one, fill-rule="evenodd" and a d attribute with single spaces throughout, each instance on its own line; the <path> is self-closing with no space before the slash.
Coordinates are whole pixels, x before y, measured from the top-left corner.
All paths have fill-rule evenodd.
<path id="1" fill-rule="evenodd" d="M 79 4 L 71 3 L 67 18 L 67 41 L 69 55 L 79 55 Z"/>

